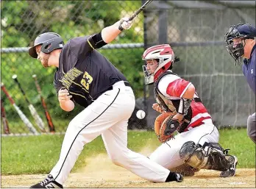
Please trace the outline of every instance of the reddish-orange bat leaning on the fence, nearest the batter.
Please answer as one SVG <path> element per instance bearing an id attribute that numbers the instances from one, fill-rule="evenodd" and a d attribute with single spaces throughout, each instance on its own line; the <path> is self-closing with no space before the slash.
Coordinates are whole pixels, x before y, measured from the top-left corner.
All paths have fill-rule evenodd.
<path id="1" fill-rule="evenodd" d="M 47 123 L 48 123 L 48 126 L 49 126 L 49 130 L 50 130 L 50 132 L 55 132 L 54 124 L 51 121 L 51 116 L 50 116 L 49 111 L 46 107 L 46 101 L 43 99 L 43 96 L 42 96 L 42 91 L 41 91 L 40 85 L 38 83 L 37 75 L 34 74 L 32 77 L 35 79 L 35 86 L 36 86 L 36 88 L 38 90 L 38 93 L 40 95 L 41 103 L 43 105 L 43 110 L 44 110 L 44 113 L 46 115 L 46 120 L 47 120 Z"/>

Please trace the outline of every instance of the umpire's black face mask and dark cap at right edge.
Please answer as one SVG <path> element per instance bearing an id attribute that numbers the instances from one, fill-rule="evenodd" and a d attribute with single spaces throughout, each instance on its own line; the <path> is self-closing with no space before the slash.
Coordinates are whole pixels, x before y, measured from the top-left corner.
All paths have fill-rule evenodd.
<path id="1" fill-rule="evenodd" d="M 228 32 L 224 36 L 227 43 L 227 51 L 235 59 L 235 65 L 241 63 L 244 54 L 243 48 L 246 39 L 254 39 L 256 37 L 256 29 L 250 24 L 238 24 L 230 26 Z"/>

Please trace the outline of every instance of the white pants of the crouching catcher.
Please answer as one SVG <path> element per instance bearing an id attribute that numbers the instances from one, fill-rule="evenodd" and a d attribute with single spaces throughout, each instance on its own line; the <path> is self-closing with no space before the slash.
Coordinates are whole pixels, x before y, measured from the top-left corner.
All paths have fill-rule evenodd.
<path id="1" fill-rule="evenodd" d="M 180 133 L 167 143 L 163 143 L 149 156 L 150 160 L 168 169 L 176 168 L 184 164 L 179 157 L 179 150 L 185 142 L 193 141 L 201 145 L 204 145 L 205 142 L 218 143 L 218 129 L 213 125 L 212 120 L 207 119 L 204 123 L 187 132 Z"/>

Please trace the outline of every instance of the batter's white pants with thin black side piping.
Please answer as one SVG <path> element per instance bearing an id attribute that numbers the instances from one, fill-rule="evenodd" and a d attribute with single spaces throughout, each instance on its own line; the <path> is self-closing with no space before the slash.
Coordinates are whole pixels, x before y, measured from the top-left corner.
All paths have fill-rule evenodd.
<path id="1" fill-rule="evenodd" d="M 116 165 L 152 182 L 165 182 L 170 171 L 127 148 L 127 125 L 135 107 L 132 88 L 117 82 L 68 125 L 60 159 L 51 175 L 61 185 L 74 167 L 84 145 L 102 135 L 107 154 Z"/>

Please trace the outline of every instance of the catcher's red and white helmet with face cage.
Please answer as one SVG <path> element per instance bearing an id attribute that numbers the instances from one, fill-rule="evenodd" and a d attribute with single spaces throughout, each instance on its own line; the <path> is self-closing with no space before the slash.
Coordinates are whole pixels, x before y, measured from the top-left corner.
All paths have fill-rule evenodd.
<path id="1" fill-rule="evenodd" d="M 157 60 L 157 68 L 154 73 L 149 74 L 146 65 L 143 65 L 146 85 L 152 84 L 158 76 L 163 74 L 174 63 L 174 51 L 168 44 L 149 47 L 142 55 L 142 60 Z"/>

